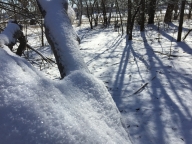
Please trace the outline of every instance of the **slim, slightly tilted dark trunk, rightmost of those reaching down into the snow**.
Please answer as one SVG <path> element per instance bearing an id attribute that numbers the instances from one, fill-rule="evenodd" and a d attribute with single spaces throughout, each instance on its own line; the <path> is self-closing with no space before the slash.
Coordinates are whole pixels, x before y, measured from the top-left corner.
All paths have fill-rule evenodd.
<path id="1" fill-rule="evenodd" d="M 185 3 L 186 0 L 182 0 L 181 3 L 181 10 L 180 10 L 180 20 L 179 20 L 179 27 L 178 27 L 178 35 L 177 35 L 177 41 L 181 41 L 181 34 L 182 34 L 182 27 L 183 27 L 183 16 L 184 16 L 184 10 L 185 10 Z"/>

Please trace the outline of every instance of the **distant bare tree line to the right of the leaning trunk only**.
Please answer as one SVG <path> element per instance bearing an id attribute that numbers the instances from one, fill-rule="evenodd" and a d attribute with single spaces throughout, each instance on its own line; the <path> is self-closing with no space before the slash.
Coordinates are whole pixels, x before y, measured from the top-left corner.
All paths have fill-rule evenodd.
<path id="1" fill-rule="evenodd" d="M 78 25 L 82 23 L 82 15 L 86 14 L 91 29 L 102 22 L 103 26 L 114 24 L 114 27 L 126 27 L 126 34 L 132 40 L 132 31 L 135 24 L 144 31 L 146 24 L 156 21 L 169 24 L 174 20 L 179 21 L 178 41 L 181 41 L 183 18 L 191 18 L 192 0 L 70 0 L 76 9 Z M 163 13 L 163 10 L 165 13 Z M 188 10 L 184 15 L 184 10 Z M 157 13 L 162 13 L 157 18 Z M 99 21 L 99 17 L 102 20 Z"/>

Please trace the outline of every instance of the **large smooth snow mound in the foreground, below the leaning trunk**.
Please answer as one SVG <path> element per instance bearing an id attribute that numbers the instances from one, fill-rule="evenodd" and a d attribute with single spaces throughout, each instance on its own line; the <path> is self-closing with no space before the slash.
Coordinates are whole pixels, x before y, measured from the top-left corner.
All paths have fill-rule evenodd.
<path id="1" fill-rule="evenodd" d="M 74 71 L 45 78 L 26 60 L 0 49 L 0 143 L 130 143 L 104 84 Z"/>

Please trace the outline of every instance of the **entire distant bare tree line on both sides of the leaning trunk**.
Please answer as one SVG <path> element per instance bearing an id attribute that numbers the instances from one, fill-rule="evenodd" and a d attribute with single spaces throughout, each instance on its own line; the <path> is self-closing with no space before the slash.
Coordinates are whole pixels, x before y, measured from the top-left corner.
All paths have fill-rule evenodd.
<path id="1" fill-rule="evenodd" d="M 82 15 L 86 15 L 91 29 L 99 23 L 104 27 L 114 25 L 122 33 L 125 31 L 129 40 L 132 40 L 135 25 L 140 26 L 140 31 L 144 31 L 147 24 L 164 22 L 169 25 L 177 20 L 177 41 L 181 41 L 183 20 L 191 19 L 192 11 L 192 0 L 69 0 L 69 3 L 75 9 L 78 26 L 82 24 Z M 185 10 L 187 14 L 184 13 Z M 0 17 L 0 30 L 9 19 L 20 23 L 36 19 L 41 24 L 38 20 L 41 19 L 41 13 L 36 0 L 2 0 Z"/>

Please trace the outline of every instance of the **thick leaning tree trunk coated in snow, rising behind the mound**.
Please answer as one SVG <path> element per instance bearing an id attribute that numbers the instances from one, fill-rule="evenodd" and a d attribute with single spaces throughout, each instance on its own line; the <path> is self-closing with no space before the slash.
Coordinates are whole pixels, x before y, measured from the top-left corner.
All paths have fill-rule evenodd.
<path id="1" fill-rule="evenodd" d="M 36 1 L 44 17 L 45 35 L 54 52 L 61 78 L 75 70 L 89 72 L 78 54 L 77 35 L 67 15 L 67 1 Z"/>

